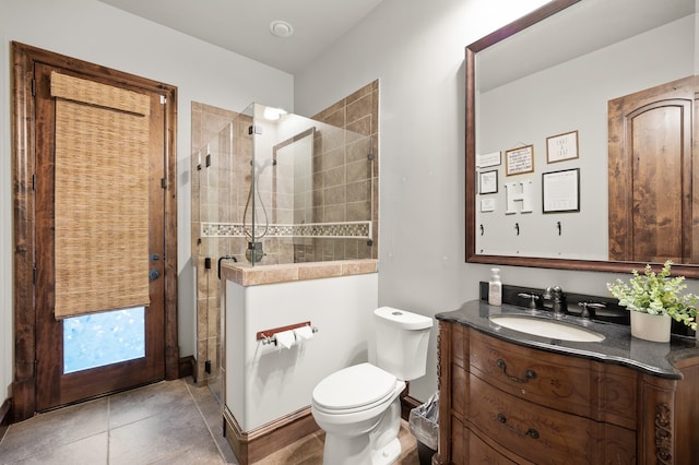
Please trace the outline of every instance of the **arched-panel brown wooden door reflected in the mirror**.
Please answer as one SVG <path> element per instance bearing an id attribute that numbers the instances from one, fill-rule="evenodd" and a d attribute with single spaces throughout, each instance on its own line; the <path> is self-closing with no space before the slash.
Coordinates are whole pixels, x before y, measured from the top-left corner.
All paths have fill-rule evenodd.
<path id="1" fill-rule="evenodd" d="M 698 263 L 697 88 L 692 76 L 609 102 L 609 260 Z"/>

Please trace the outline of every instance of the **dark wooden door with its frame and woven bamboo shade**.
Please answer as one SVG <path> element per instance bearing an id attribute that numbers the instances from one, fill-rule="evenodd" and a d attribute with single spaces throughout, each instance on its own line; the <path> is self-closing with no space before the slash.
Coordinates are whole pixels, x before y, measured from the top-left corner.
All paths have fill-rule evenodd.
<path id="1" fill-rule="evenodd" d="M 13 53 L 15 62 L 13 111 L 17 128 L 14 139 L 15 160 L 13 165 L 14 230 L 15 243 L 17 245 L 17 254 L 15 255 L 15 381 L 13 383 L 13 401 L 14 418 L 21 420 L 34 412 L 178 377 L 175 112 L 173 110 L 176 94 L 174 87 L 165 84 L 153 83 L 142 78 L 20 44 L 13 44 Z M 93 91 L 97 90 L 92 94 L 93 96 L 97 95 L 97 100 L 83 102 L 84 106 L 91 109 L 90 111 L 95 109 L 97 112 L 81 114 L 81 118 L 75 118 L 74 114 L 61 114 L 61 98 L 73 103 L 71 100 L 73 97 L 56 96 L 55 90 L 51 88 L 51 80 L 54 79 L 56 82 L 57 75 L 78 83 L 78 93 L 82 92 L 81 84 L 93 87 Z M 31 92 L 31 95 L 27 91 Z M 100 100 L 99 96 L 103 92 L 106 94 L 116 93 L 117 97 L 112 96 L 111 99 L 116 103 L 116 112 L 121 115 L 134 114 L 131 109 L 121 108 L 121 98 L 125 95 L 139 98 L 143 108 L 143 115 L 139 115 L 139 118 L 142 116 L 143 122 L 135 136 L 131 129 L 111 127 L 109 119 L 104 121 L 100 119 L 100 123 L 88 120 L 93 115 L 108 114 L 115 109 Z M 57 110 L 57 108 L 59 109 Z M 107 247 L 106 237 L 99 236 L 106 235 L 104 229 L 94 229 L 94 233 L 87 230 L 87 235 L 94 234 L 97 237 L 97 240 L 90 240 L 90 242 L 93 246 L 94 243 L 99 245 L 105 239 L 105 248 L 85 257 L 83 261 L 86 262 L 87 267 L 82 275 L 74 275 L 75 271 L 71 270 L 72 281 L 64 279 L 64 274 L 69 273 L 63 267 L 66 261 L 57 258 L 64 258 L 67 254 L 64 249 L 59 251 L 57 248 L 59 242 L 57 238 L 59 234 L 62 234 L 61 231 L 71 229 L 70 222 L 66 222 L 66 217 L 70 218 L 71 210 L 79 210 L 73 204 L 66 204 L 66 195 L 61 190 L 66 183 L 60 183 L 60 179 L 67 178 L 66 172 L 70 178 L 73 171 L 66 171 L 63 167 L 62 177 L 57 176 L 59 172 L 57 168 L 59 163 L 57 162 L 62 159 L 57 155 L 57 146 L 61 145 L 57 141 L 62 141 L 61 131 L 66 132 L 68 126 L 78 127 L 76 130 L 71 130 L 72 139 L 78 142 L 73 147 L 79 147 L 78 150 L 82 150 L 80 148 L 82 141 L 80 138 L 85 138 L 84 141 L 88 144 L 90 138 L 95 138 L 94 134 L 97 136 L 103 133 L 110 134 L 109 138 L 112 141 L 110 146 L 112 147 L 115 145 L 118 147 L 120 141 L 126 141 L 129 138 L 139 140 L 142 153 L 135 156 L 138 166 L 129 165 L 127 169 L 133 169 L 133 172 L 141 174 L 138 179 L 143 180 L 143 183 L 146 184 L 143 188 L 133 189 L 133 186 L 140 184 L 137 182 L 132 183 L 131 188 L 127 188 L 123 180 L 117 180 L 117 177 L 105 178 L 104 172 L 93 182 L 92 179 L 87 179 L 90 177 L 85 176 L 85 172 L 95 171 L 81 169 L 75 171 L 75 177 L 87 180 L 85 184 L 91 186 L 92 183 L 102 195 L 117 196 L 129 189 L 138 191 L 138 194 L 131 195 L 131 198 L 139 199 L 140 203 L 135 203 L 137 207 L 131 204 L 114 203 L 117 205 L 117 210 L 145 211 L 141 215 L 144 218 L 142 222 L 144 227 L 134 234 L 141 238 L 139 243 L 143 247 L 133 249 L 138 250 L 138 253 L 133 252 L 133 254 L 138 255 L 141 265 L 144 265 L 143 279 L 138 278 L 135 281 L 138 285 L 134 285 L 133 281 L 127 283 L 126 278 L 122 279 L 121 275 L 117 273 L 114 275 L 116 276 L 114 279 L 103 281 L 102 285 L 97 282 L 94 286 L 83 286 L 97 289 L 98 293 L 94 294 L 105 294 L 107 298 L 104 299 L 106 303 L 90 303 L 81 309 L 83 315 L 85 313 L 104 315 L 110 310 L 122 311 L 125 305 L 119 298 L 120 295 L 131 294 L 132 287 L 140 286 L 143 300 L 138 311 L 143 314 L 141 330 L 143 348 L 141 354 L 128 357 L 126 360 L 109 361 L 97 366 L 87 365 L 86 368 L 71 370 L 67 368 L 67 360 L 63 357 L 64 343 L 68 338 L 64 337 L 63 332 L 67 320 L 62 319 L 66 315 L 59 315 L 56 312 L 56 303 L 61 300 L 61 295 L 66 294 L 66 289 L 72 291 L 71 286 L 83 281 L 94 281 L 95 276 L 98 276 L 98 274 L 93 276 L 90 272 L 93 260 L 95 265 L 98 262 L 104 264 L 105 260 L 120 263 L 118 260 L 121 258 L 120 255 L 131 253 L 131 248 L 111 250 Z M 92 129 L 90 134 L 85 135 L 83 128 L 86 127 Z M 22 133 L 27 136 L 22 136 Z M 63 151 L 63 153 L 68 152 L 70 150 Z M 126 154 L 127 151 L 123 153 Z M 83 163 L 84 159 L 86 166 L 99 168 L 107 164 L 105 153 L 99 151 L 80 156 L 83 158 L 78 158 L 78 162 Z M 88 191 L 90 189 L 86 192 Z M 83 198 L 85 195 L 90 198 L 90 194 L 83 194 Z M 84 206 L 83 210 L 85 210 Z M 69 212 L 69 215 L 57 215 L 58 211 Z M 97 220 L 93 220 L 93 223 L 106 224 L 107 229 L 115 226 L 114 223 L 110 223 L 114 222 L 111 214 L 105 214 L 104 217 L 93 216 L 97 216 Z M 61 219 L 62 226 L 57 229 Z M 68 226 L 66 226 L 67 224 Z M 103 233 L 99 233 L 100 230 Z M 125 237 L 129 236 L 128 233 Z M 81 234 L 85 234 L 85 231 Z M 73 250 L 73 253 L 82 252 L 80 247 Z M 105 269 L 108 270 L 103 266 L 103 270 Z M 115 282 L 121 285 L 121 293 L 107 290 Z M 80 298 L 73 301 L 78 307 L 84 303 Z M 31 367 L 29 363 L 32 363 Z"/>

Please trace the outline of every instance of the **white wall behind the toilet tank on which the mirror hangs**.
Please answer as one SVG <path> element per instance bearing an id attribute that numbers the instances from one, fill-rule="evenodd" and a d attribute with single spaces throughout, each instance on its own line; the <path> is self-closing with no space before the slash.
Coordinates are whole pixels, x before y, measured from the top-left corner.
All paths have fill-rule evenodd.
<path id="1" fill-rule="evenodd" d="M 380 306 L 431 315 L 477 298 L 487 281 L 489 266 L 464 263 L 464 47 L 542 3 L 384 0 L 296 75 L 299 115 L 380 80 Z M 505 284 L 593 295 L 617 277 L 509 266 L 500 274 Z M 437 389 L 433 335 L 428 374 L 411 384 L 423 401 Z"/>

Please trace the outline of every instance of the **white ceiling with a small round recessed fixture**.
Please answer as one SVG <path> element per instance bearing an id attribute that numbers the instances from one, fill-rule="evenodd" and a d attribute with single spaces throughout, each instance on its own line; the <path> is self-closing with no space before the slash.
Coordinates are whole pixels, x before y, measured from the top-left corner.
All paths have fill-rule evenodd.
<path id="1" fill-rule="evenodd" d="M 210 44 L 296 73 L 382 0 L 99 0 Z M 294 33 L 274 36 L 282 20 Z"/>

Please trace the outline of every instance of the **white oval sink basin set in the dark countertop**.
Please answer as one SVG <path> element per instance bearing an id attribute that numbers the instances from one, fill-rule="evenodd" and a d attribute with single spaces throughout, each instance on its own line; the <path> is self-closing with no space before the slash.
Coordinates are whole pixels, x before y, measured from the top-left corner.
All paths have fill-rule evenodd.
<path id="1" fill-rule="evenodd" d="M 550 337 L 552 339 L 582 343 L 599 343 L 600 341 L 604 341 L 604 336 L 594 331 L 558 321 L 544 320 L 542 318 L 494 314 L 490 317 L 490 321 L 500 326 L 519 331 L 520 333 Z"/>

